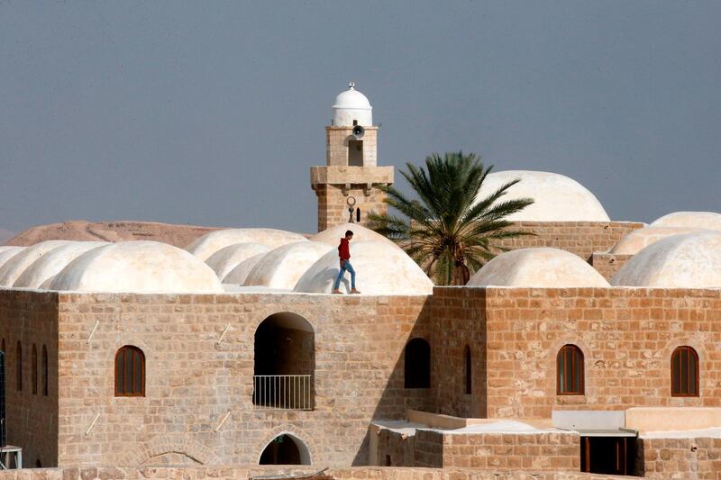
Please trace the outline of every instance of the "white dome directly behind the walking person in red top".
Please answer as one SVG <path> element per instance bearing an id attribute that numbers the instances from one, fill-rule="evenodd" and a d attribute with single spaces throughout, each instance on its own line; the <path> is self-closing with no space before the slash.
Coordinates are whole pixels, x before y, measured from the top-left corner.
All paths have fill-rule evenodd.
<path id="1" fill-rule="evenodd" d="M 434 284 L 412 258 L 387 241 L 351 241 L 351 265 L 356 271 L 356 286 L 363 294 L 432 294 Z M 330 294 L 340 270 L 338 251 L 333 249 L 308 268 L 294 291 Z M 342 292 L 350 292 L 351 274 L 341 283 Z"/>

